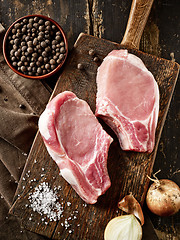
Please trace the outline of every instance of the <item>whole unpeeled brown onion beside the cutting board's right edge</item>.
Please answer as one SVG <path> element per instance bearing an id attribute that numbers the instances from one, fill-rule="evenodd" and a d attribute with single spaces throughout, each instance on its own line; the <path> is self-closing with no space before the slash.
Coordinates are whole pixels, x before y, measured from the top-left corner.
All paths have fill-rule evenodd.
<path id="1" fill-rule="evenodd" d="M 180 209 L 180 188 L 171 180 L 156 180 L 147 192 L 146 203 L 154 214 L 171 216 Z"/>

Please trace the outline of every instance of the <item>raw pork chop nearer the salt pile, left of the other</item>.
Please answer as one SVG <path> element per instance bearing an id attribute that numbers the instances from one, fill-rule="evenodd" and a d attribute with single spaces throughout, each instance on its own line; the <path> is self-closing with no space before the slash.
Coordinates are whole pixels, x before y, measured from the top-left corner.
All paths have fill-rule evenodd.
<path id="1" fill-rule="evenodd" d="M 112 138 L 89 105 L 72 92 L 60 93 L 40 116 L 39 130 L 61 175 L 85 202 L 95 203 L 111 185 L 107 156 Z"/>

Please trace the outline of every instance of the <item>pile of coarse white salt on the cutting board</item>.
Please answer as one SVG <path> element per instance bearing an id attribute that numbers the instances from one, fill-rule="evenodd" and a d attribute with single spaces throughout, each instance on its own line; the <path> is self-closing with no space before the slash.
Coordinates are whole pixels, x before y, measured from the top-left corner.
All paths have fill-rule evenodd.
<path id="1" fill-rule="evenodd" d="M 29 196 L 30 207 L 40 215 L 46 215 L 50 221 L 60 220 L 63 205 L 58 202 L 57 191 L 53 191 L 47 182 L 42 182 Z"/>

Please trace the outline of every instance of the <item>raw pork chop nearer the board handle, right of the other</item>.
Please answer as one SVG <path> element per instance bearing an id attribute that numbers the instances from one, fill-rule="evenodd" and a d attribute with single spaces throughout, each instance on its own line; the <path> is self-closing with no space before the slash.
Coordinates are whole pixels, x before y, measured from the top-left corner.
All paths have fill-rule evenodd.
<path id="1" fill-rule="evenodd" d="M 98 68 L 96 81 L 96 116 L 114 130 L 121 148 L 152 152 L 159 90 L 142 60 L 127 50 L 114 50 Z"/>

